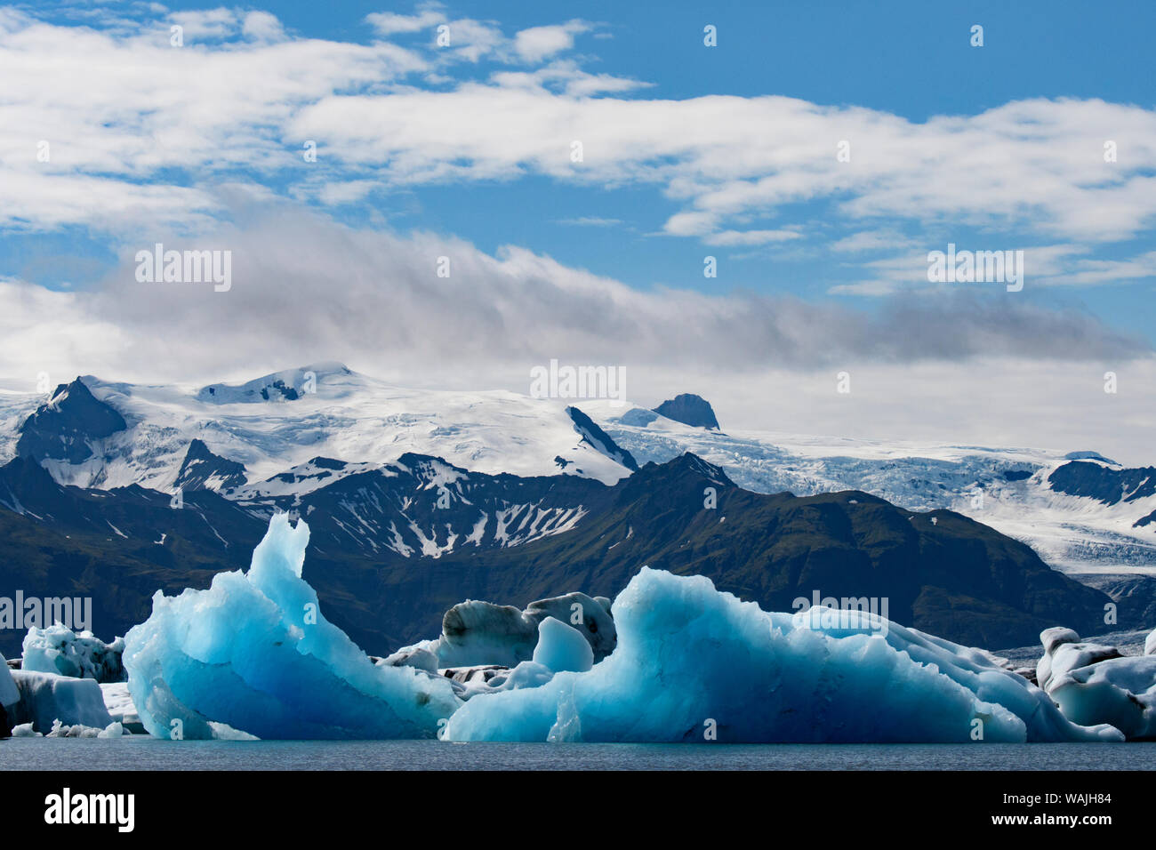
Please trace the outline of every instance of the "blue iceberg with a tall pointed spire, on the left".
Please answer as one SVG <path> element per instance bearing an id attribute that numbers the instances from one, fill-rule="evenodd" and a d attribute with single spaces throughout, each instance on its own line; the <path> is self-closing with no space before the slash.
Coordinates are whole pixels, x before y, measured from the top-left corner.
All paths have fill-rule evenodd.
<path id="1" fill-rule="evenodd" d="M 158 738 L 432 738 L 459 704 L 449 680 L 375 666 L 321 614 L 302 578 L 309 526 L 269 520 L 247 572 L 208 590 L 157 593 L 125 637 L 128 690 Z"/>

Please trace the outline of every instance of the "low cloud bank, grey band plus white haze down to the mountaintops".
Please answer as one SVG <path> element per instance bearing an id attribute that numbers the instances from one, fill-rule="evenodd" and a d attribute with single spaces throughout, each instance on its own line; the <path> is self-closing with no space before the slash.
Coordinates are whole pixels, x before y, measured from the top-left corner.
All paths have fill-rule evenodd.
<path id="1" fill-rule="evenodd" d="M 638 291 L 520 247 L 488 254 L 460 239 L 265 210 L 194 242 L 156 237 L 169 249 L 230 250 L 228 293 L 138 283 L 132 254 L 150 245 L 126 245 L 92 291 L 0 282 L 0 377 L 208 383 L 336 359 L 400 385 L 525 392 L 529 368 L 557 357 L 627 367 L 644 402 L 702 392 L 727 428 L 1150 460 L 1151 350 L 1077 310 L 949 291 L 872 312 Z M 439 257 L 450 258 L 449 279 L 437 275 Z M 1103 393 L 1107 369 L 1120 376 L 1118 396 Z M 850 397 L 835 392 L 844 370 Z"/>

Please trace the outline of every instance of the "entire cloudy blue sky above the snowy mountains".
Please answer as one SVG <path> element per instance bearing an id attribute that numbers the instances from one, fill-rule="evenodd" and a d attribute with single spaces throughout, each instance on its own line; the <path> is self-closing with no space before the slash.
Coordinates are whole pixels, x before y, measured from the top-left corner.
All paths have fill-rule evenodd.
<path id="1" fill-rule="evenodd" d="M 558 359 L 724 427 L 1153 463 L 1154 24 L 1139 0 L 0 7 L 0 379 L 341 360 L 525 392 Z M 138 280 L 157 243 L 228 251 L 228 291 Z M 931 282 L 948 245 L 1022 257 L 1022 287 Z"/>

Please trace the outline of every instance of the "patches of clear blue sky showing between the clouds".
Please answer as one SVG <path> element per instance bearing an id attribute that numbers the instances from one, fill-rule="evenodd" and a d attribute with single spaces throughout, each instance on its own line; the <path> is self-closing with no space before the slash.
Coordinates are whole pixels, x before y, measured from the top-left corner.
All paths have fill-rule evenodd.
<path id="1" fill-rule="evenodd" d="M 1085 2 L 829 2 L 822 14 L 798 3 L 722 2 L 712 5 L 709 13 L 701 6 L 664 3 L 659 13 L 638 3 L 583 3 L 580 19 L 591 22 L 591 30 L 576 37 L 569 53 L 592 73 L 645 83 L 616 95 L 623 98 L 784 95 L 818 105 L 867 108 L 913 123 L 942 114 L 975 116 L 1037 97 L 1102 98 L 1143 109 L 1154 105 L 1149 35 L 1156 24 L 1156 6 L 1148 2 L 1117 3 L 1109 9 Z M 169 8 L 179 13 L 218 6 L 172 3 Z M 316 3 L 276 2 L 260 8 L 275 14 L 294 37 L 360 44 L 377 35 L 366 15 L 381 10 L 380 5 L 362 2 L 336 3 L 324 13 Z M 415 8 L 390 7 L 399 14 L 414 13 Z M 569 7 L 557 3 L 476 2 L 443 8 L 447 20 L 461 15 L 491 21 L 506 34 L 575 17 Z M 77 12 L 67 5 L 55 12 L 51 5 L 40 5 L 32 12 L 64 24 L 94 20 L 90 9 Z M 139 20 L 142 25 L 156 25 L 158 17 L 164 17 L 141 14 L 131 3 L 109 7 L 109 16 L 113 14 Z M 705 23 L 718 28 L 717 47 L 703 45 Z M 970 45 L 975 23 L 984 27 L 980 49 Z M 432 28 L 391 35 L 397 44 L 421 51 L 429 44 Z M 445 71 L 444 82 L 427 86 L 450 89 L 464 80 L 484 80 L 511 67 L 487 59 L 460 62 Z M 197 180 L 195 172 L 175 172 L 178 182 Z M 340 169 L 335 175 L 340 177 Z M 218 169 L 214 177 L 252 177 L 291 194 L 296 175 Z M 909 236 L 914 249 L 927 243 L 927 249 L 934 250 L 949 241 L 977 249 L 1042 244 L 1030 219 L 975 227 L 965 216 L 940 216 L 927 228 L 916 220 L 887 216 L 849 222 L 832 209 L 839 195 L 831 194 L 761 210 L 751 226 L 798 227 L 802 236 L 787 243 L 710 249 L 720 259 L 720 273 L 704 279 L 706 250 L 701 242 L 661 235 L 672 210 L 662 189 L 649 182 L 592 186 L 525 173 L 384 186 L 327 212 L 347 222 L 369 219 L 401 230 L 457 235 L 489 252 L 504 244 L 524 245 L 640 288 L 665 284 L 704 291 L 790 293 L 812 300 L 842 297 L 866 301 L 861 304 L 865 309 L 872 308 L 870 298 L 830 291 L 861 281 L 862 264 L 885 254 L 840 256 L 830 251 L 832 242 L 865 228 Z M 600 224 L 593 224 L 599 220 Z M 114 264 L 114 242 L 87 227 L 36 228 L 22 235 L 9 229 L 0 237 L 0 261 L 10 274 L 49 286 L 86 286 Z M 1097 243 L 1084 259 L 1125 260 L 1151 247 L 1151 231 L 1144 230 L 1135 238 Z M 1119 281 L 1029 287 L 1027 297 L 1082 304 L 1113 325 L 1151 339 L 1156 327 L 1153 279 L 1121 276 Z"/>

